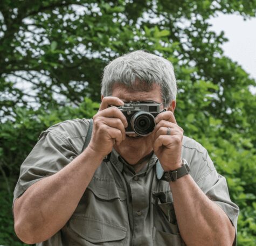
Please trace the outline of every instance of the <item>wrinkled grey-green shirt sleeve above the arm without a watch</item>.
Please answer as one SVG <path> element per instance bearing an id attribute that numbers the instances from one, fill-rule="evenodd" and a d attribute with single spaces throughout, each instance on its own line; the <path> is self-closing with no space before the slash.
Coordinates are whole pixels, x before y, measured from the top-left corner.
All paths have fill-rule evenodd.
<path id="1" fill-rule="evenodd" d="M 78 156 L 67 136 L 56 128 L 43 132 L 38 143 L 20 166 L 13 202 L 40 179 L 57 173 Z"/>

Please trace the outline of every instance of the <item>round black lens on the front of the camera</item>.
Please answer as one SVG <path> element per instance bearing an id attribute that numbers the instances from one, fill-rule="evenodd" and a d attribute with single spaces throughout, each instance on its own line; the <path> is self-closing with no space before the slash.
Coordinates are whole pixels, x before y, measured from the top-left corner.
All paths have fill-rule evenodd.
<path id="1" fill-rule="evenodd" d="M 131 125 L 139 136 L 149 135 L 155 128 L 155 117 L 148 112 L 140 111 L 133 115 Z"/>

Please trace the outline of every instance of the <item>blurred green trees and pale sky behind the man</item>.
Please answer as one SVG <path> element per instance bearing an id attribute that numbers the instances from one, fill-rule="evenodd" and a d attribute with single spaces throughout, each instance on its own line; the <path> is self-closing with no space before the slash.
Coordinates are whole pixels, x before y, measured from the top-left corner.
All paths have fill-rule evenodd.
<path id="1" fill-rule="evenodd" d="M 234 14 L 255 17 L 256 0 L 1 0 L 0 244 L 26 245 L 13 231 L 12 194 L 40 132 L 92 117 L 107 63 L 146 50 L 174 65 L 177 122 L 227 179 L 240 207 L 238 245 L 255 246 L 256 44 L 225 19 Z M 224 52 L 227 24 L 240 46 Z"/>

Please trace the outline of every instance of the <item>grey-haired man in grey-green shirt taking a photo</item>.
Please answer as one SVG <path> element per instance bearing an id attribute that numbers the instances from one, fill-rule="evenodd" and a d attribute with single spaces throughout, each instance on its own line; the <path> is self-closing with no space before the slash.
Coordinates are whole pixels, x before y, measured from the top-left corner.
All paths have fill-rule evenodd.
<path id="1" fill-rule="evenodd" d="M 38 245 L 236 244 L 238 207 L 204 147 L 183 136 L 176 90 L 172 65 L 156 55 L 110 62 L 88 146 L 89 121 L 65 121 L 43 132 L 22 164 L 18 237 Z M 126 132 L 120 106 L 131 101 L 160 106 L 147 136 Z"/>

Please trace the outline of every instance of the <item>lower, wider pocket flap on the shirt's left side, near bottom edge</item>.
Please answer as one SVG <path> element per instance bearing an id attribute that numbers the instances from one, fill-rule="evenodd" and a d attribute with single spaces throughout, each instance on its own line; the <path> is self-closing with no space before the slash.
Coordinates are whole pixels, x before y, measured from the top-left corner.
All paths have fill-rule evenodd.
<path id="1" fill-rule="evenodd" d="M 126 237 L 127 229 L 87 217 L 72 216 L 70 228 L 91 243 L 119 241 Z"/>

